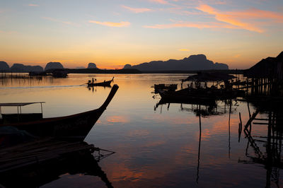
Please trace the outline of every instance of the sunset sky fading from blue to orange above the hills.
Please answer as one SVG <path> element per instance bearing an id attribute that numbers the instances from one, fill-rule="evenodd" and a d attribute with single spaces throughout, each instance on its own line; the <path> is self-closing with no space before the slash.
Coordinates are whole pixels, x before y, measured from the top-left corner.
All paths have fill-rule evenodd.
<path id="1" fill-rule="evenodd" d="M 283 51 L 282 0 L 0 0 L 0 61 L 65 68 L 207 59 L 247 69 Z"/>

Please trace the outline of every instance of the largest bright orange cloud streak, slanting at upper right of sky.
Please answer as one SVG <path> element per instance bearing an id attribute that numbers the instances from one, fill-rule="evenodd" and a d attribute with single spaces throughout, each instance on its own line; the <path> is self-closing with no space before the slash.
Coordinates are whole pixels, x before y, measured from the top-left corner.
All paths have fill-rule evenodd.
<path id="1" fill-rule="evenodd" d="M 198 6 L 197 9 L 209 15 L 215 16 L 216 20 L 228 23 L 236 28 L 250 30 L 257 33 L 264 32 L 264 30 L 260 27 L 263 23 L 262 20 L 271 20 L 273 22 L 283 23 L 283 14 L 272 11 L 262 11 L 256 8 L 246 11 L 221 12 L 212 6 L 202 4 Z M 260 22 L 255 21 L 257 19 L 260 20 Z"/>

